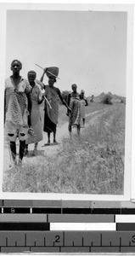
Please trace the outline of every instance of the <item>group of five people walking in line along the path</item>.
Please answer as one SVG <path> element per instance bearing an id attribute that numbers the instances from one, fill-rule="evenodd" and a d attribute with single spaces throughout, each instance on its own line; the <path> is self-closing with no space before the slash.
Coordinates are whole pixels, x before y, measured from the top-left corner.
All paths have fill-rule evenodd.
<path id="1" fill-rule="evenodd" d="M 76 125 L 78 134 L 81 128 L 81 118 L 85 125 L 85 110 L 87 99 L 84 91 L 77 92 L 76 84 L 72 84 L 72 92 L 65 102 L 59 88 L 54 86 L 56 76 L 49 76 L 48 85 L 43 84 L 43 78 L 48 68 L 44 68 L 42 78 L 37 79 L 35 71 L 27 73 L 28 79 L 20 76 L 22 63 L 14 60 L 11 63 L 12 75 L 5 80 L 4 92 L 4 124 L 8 136 L 10 152 L 14 165 L 21 166 L 25 154 L 28 154 L 28 145 L 34 143 L 33 155 L 37 154 L 37 144 L 42 141 L 42 119 L 40 115 L 40 104 L 44 101 L 44 124 L 43 131 L 48 133 L 50 145 L 50 134 L 53 132 L 53 143 L 56 141 L 56 127 L 58 124 L 59 103 L 58 97 L 67 108 L 69 116 L 69 132 L 72 125 Z M 44 93 L 42 93 L 44 90 Z M 19 137 L 19 161 L 16 159 L 16 138 Z"/>

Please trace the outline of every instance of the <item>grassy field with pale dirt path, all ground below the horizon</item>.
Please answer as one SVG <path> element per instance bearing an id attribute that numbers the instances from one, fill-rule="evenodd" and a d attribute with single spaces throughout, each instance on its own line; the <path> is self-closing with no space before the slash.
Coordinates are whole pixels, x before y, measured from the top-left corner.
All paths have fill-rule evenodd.
<path id="1" fill-rule="evenodd" d="M 22 167 L 8 169 L 10 159 L 5 142 L 3 191 L 122 195 L 125 108 L 126 104 L 121 102 L 89 103 L 85 128 L 81 129 L 80 137 L 74 128 L 70 138 L 66 108 L 59 105 L 59 145 L 42 148 L 47 142 L 44 133 L 38 145 L 39 154 L 25 157 Z M 43 107 L 41 113 L 43 119 Z"/>

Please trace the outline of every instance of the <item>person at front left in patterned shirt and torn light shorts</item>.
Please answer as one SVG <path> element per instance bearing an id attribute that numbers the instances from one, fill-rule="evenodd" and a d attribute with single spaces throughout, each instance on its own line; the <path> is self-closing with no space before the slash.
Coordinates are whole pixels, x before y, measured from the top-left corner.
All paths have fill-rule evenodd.
<path id="1" fill-rule="evenodd" d="M 11 63 L 13 74 L 5 80 L 4 122 L 8 135 L 14 165 L 16 160 L 16 139 L 19 137 L 19 162 L 21 166 L 25 153 L 25 139 L 31 127 L 31 93 L 27 80 L 20 76 L 22 64 L 18 60 Z"/>

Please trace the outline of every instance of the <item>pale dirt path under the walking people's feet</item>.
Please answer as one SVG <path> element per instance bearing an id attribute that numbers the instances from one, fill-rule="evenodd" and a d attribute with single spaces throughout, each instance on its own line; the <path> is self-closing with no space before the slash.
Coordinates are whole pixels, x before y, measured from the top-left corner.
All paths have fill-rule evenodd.
<path id="1" fill-rule="evenodd" d="M 108 108 L 104 109 L 104 111 L 108 111 Z M 99 116 L 101 116 L 103 113 L 103 110 L 98 110 L 98 111 L 94 111 L 93 113 L 87 113 L 86 114 L 86 125 L 85 127 L 87 127 L 88 125 L 95 125 L 95 121 L 96 119 L 98 119 Z M 87 117 L 91 117 L 91 119 L 89 120 L 89 122 L 87 122 Z M 81 134 L 85 131 L 85 129 L 81 129 Z M 76 127 L 72 129 L 72 136 L 74 136 L 74 134 L 76 134 Z M 51 155 L 51 154 L 57 154 L 59 151 L 59 148 L 62 145 L 62 139 L 64 137 L 69 137 L 69 132 L 68 132 L 68 122 L 66 122 L 64 125 L 57 127 L 57 141 L 58 141 L 58 145 L 53 145 L 53 146 L 45 146 L 42 147 L 44 145 L 44 143 L 47 143 L 47 133 L 43 132 L 43 140 L 42 142 L 38 143 L 38 151 L 39 151 L 39 155 L 37 155 L 36 157 L 24 157 L 23 162 L 24 163 L 30 163 L 32 162 L 32 164 L 37 161 L 37 158 L 40 157 L 41 155 L 43 156 L 47 156 L 47 155 Z M 51 134 L 51 140 L 53 140 L 53 135 Z M 30 155 L 31 152 L 34 148 L 34 144 L 30 144 L 29 145 L 29 151 L 30 151 Z M 17 152 L 19 151 L 19 142 L 17 142 Z M 10 150 L 9 150 L 9 144 L 7 141 L 5 141 L 4 143 L 4 160 L 3 160 L 3 169 L 4 172 L 8 171 L 9 166 L 12 166 L 12 159 L 11 159 L 11 155 L 10 155 Z"/>

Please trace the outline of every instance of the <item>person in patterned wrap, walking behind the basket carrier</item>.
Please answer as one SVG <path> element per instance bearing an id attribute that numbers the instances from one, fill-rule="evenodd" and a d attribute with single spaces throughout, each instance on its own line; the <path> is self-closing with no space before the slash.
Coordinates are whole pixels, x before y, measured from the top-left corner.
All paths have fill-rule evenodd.
<path id="1" fill-rule="evenodd" d="M 81 101 L 80 95 L 77 92 L 77 85 L 71 85 L 72 92 L 68 96 L 68 106 L 71 109 L 71 112 L 67 112 L 69 115 L 69 132 L 71 132 L 71 126 L 76 125 L 77 133 L 80 134 L 80 120 L 81 120 Z"/>

